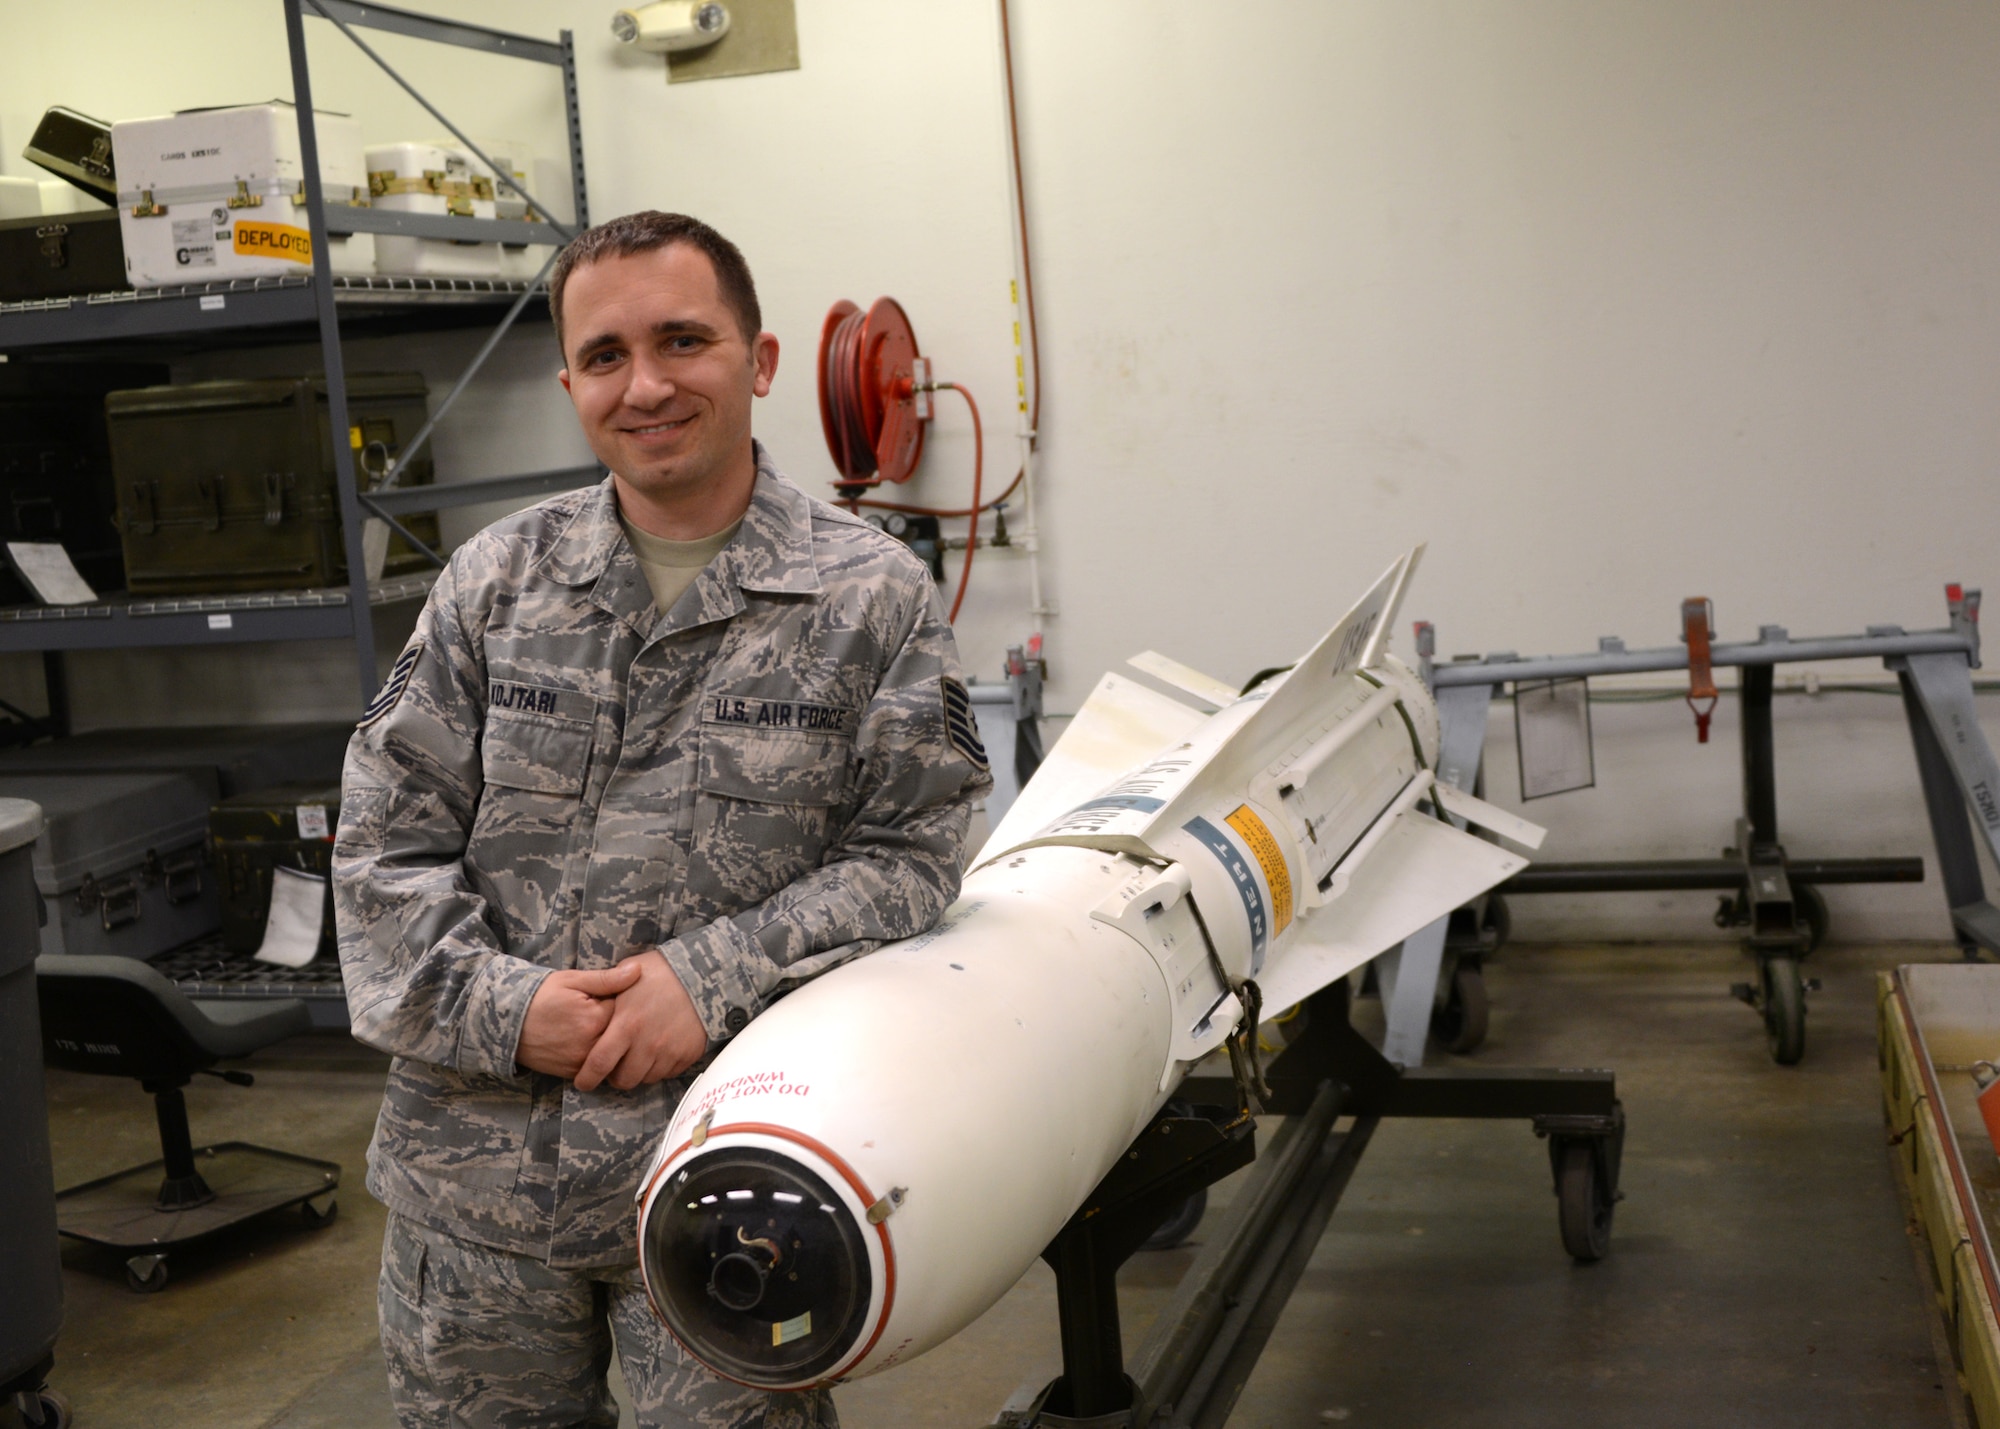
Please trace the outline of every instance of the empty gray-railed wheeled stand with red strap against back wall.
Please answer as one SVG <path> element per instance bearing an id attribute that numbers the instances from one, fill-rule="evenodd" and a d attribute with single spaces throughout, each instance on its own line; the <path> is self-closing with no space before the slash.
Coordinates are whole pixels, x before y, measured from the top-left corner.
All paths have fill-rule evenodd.
<path id="1" fill-rule="evenodd" d="M 1778 785 L 1772 753 L 1774 666 L 1802 660 L 1880 658 L 1902 686 L 1916 771 L 1938 851 L 1938 871 L 1952 929 L 1968 959 L 1980 949 L 2000 953 L 2000 909 L 1986 901 L 1978 849 L 1966 807 L 1978 815 L 1986 847 L 2000 859 L 2000 763 L 1980 731 L 1972 704 L 1972 670 L 1980 668 L 1980 592 L 1946 586 L 1950 624 L 1942 630 L 1908 632 L 1902 626 L 1868 626 L 1864 634 L 1794 640 L 1782 626 L 1758 628 L 1756 640 L 1710 644 L 1706 600 L 1682 604 L 1686 638 L 1654 650 L 1626 650 L 1624 640 L 1598 640 L 1596 654 L 1520 658 L 1512 652 L 1454 658 L 1432 664 L 1436 634 L 1418 624 L 1418 654 L 1438 696 L 1442 731 L 1438 737 L 1438 779 L 1468 793 L 1482 791 L 1486 714 L 1494 692 L 1514 684 L 1578 680 L 1592 674 L 1634 674 L 1646 670 L 1688 670 L 1690 704 L 1714 698 L 1710 666 L 1742 668 L 1742 779 L 1744 813 L 1736 821 L 1732 847 L 1720 859 L 1620 861 L 1620 863 L 1534 863 L 1508 879 L 1494 897 L 1524 893 L 1626 893 L 1626 891 L 1726 891 L 1716 913 L 1720 927 L 1744 929 L 1744 953 L 1756 961 L 1756 981 L 1738 983 L 1734 993 L 1764 1019 L 1770 1055 L 1792 1065 L 1806 1053 L 1806 993 L 1816 983 L 1800 975 L 1804 957 L 1826 935 L 1826 901 L 1820 885 L 1832 883 L 1922 883 L 1922 859 L 1794 859 L 1778 841 Z M 1712 704 L 1710 704 L 1712 708 Z M 1706 714 L 1698 712 L 1706 739 Z M 1446 941 L 1446 923 L 1414 935 L 1402 945 L 1396 975 L 1384 979 L 1382 1003 L 1388 1013 L 1384 1053 L 1394 1061 L 1422 1059 L 1424 1035 L 1434 1017 L 1454 1005 L 1476 1001 L 1478 943 Z M 1488 939 L 1490 941 L 1490 939 Z M 1380 959 L 1390 965 L 1394 955 Z M 1470 995 L 1470 999 L 1468 999 Z M 1454 1043 L 1452 1051 L 1472 1051 Z"/>

